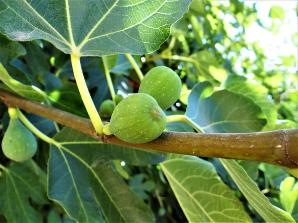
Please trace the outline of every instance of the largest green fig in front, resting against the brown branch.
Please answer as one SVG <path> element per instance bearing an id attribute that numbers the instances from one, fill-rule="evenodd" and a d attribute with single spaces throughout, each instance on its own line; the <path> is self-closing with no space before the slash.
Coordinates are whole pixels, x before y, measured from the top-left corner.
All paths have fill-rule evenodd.
<path id="1" fill-rule="evenodd" d="M 147 94 L 133 94 L 115 108 L 108 127 L 110 133 L 129 143 L 147 143 L 164 130 L 166 116 L 155 99 Z"/>

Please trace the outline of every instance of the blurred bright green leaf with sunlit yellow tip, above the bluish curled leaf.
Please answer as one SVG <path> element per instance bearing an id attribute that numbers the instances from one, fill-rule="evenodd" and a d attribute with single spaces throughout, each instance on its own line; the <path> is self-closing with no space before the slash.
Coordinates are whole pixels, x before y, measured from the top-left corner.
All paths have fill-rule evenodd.
<path id="1" fill-rule="evenodd" d="M 203 77 L 211 75 L 220 82 L 226 79 L 226 71 L 224 67 L 219 64 L 218 59 L 213 53 L 207 50 L 199 51 L 195 53 L 195 59 L 198 62 L 197 71 Z"/>

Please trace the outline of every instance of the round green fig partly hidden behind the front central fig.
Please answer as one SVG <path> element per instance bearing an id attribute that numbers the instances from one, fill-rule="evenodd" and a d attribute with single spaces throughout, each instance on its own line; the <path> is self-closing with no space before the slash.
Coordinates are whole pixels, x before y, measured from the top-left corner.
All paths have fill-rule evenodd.
<path id="1" fill-rule="evenodd" d="M 139 93 L 149 94 L 162 110 L 166 110 L 178 100 L 181 88 L 181 80 L 172 69 L 156 66 L 144 76 Z"/>

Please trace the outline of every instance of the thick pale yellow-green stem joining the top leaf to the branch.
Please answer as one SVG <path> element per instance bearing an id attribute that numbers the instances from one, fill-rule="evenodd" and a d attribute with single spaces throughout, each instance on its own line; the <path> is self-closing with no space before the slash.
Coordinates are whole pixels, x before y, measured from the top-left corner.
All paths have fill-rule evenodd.
<path id="1" fill-rule="evenodd" d="M 82 68 L 80 65 L 79 56 L 71 55 L 71 59 L 72 59 L 72 65 L 74 70 L 74 78 L 75 78 L 79 93 L 81 95 L 81 98 L 83 100 L 83 103 L 86 107 L 86 110 L 89 114 L 89 117 L 95 128 L 95 131 L 98 132 L 99 134 L 102 134 L 103 123 L 99 117 L 99 114 L 94 106 L 94 103 L 88 91 L 88 88 L 84 79 L 84 75 L 82 72 Z"/>

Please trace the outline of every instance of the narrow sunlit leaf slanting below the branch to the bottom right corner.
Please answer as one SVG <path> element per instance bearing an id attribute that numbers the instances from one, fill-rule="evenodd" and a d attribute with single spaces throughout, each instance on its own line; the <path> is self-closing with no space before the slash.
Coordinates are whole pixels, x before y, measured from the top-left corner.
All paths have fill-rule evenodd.
<path id="1" fill-rule="evenodd" d="M 245 170 L 234 160 L 221 159 L 221 162 L 248 202 L 266 222 L 295 222 L 289 213 L 269 202 Z"/>

